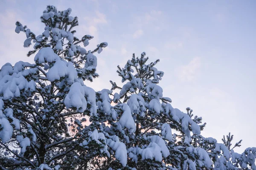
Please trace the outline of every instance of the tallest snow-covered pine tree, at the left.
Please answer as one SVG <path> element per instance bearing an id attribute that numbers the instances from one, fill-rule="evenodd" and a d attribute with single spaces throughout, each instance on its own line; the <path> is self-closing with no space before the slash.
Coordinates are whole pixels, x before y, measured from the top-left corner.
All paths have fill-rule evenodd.
<path id="1" fill-rule="evenodd" d="M 84 115 L 96 116 L 95 92 L 84 85 L 96 73 L 97 58 L 108 44 L 93 51 L 84 46 L 93 36 L 74 37 L 78 17 L 71 8 L 57 11 L 47 6 L 41 16 L 45 28 L 36 36 L 20 22 L 16 33 L 24 32 L 24 47 L 35 43 L 35 63 L 6 63 L 0 70 L 0 168 L 24 170 L 86 169 L 94 155 L 79 146 L 87 136 Z"/>

